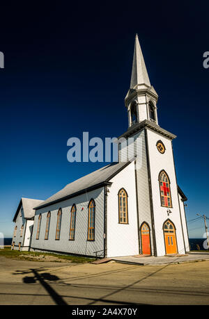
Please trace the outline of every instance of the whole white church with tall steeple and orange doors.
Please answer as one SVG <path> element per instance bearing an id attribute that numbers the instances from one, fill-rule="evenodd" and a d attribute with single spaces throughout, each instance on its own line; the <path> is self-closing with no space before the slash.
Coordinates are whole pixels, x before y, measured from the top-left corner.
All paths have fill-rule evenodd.
<path id="1" fill-rule="evenodd" d="M 25 236 L 29 238 L 26 243 L 17 238 L 17 229 L 24 224 L 20 217 L 24 202 L 20 202 L 14 218 L 14 249 L 28 245 L 31 251 L 100 257 L 189 251 L 187 197 L 178 186 L 173 160 L 176 136 L 158 124 L 157 98 L 136 35 L 125 97 L 129 127 L 119 137 L 118 163 L 34 203 L 28 221 L 33 232 L 31 238 Z M 127 140 L 132 141 L 129 146 Z M 125 161 L 127 152 L 129 160 Z"/>

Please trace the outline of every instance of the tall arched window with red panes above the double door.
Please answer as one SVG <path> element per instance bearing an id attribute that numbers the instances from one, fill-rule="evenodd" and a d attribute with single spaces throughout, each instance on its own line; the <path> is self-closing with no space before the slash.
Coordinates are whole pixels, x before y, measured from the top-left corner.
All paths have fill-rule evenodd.
<path id="1" fill-rule="evenodd" d="M 160 172 L 159 177 L 160 183 L 160 197 L 161 197 L 161 205 L 164 207 L 171 207 L 171 190 L 170 190 L 170 182 L 169 177 L 164 170 Z"/>

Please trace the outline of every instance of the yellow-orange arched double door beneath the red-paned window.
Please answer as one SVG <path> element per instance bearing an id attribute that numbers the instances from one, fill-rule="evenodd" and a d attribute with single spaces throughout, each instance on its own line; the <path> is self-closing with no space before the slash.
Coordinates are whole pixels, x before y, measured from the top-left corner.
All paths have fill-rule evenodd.
<path id="1" fill-rule="evenodd" d="M 176 228 L 171 220 L 164 222 L 163 231 L 166 254 L 177 254 Z"/>

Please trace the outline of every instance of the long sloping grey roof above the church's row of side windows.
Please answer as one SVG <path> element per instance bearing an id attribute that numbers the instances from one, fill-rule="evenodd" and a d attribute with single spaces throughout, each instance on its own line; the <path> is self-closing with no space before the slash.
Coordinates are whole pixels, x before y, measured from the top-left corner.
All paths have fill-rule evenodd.
<path id="1" fill-rule="evenodd" d="M 91 174 L 88 174 L 80 179 L 77 179 L 76 181 L 73 181 L 72 183 L 69 183 L 62 190 L 46 199 L 40 205 L 34 206 L 34 209 L 42 208 L 56 202 L 61 202 L 65 199 L 75 197 L 82 193 L 86 193 L 86 191 L 102 187 L 105 185 L 105 183 L 108 184 L 109 180 L 112 177 L 118 174 L 118 172 L 121 172 L 121 170 L 123 170 L 123 168 L 125 168 L 130 163 L 131 161 L 111 163 L 100 168 L 99 170 L 95 170 L 95 172 L 92 172 Z M 111 183 L 109 183 L 109 185 L 111 185 Z"/>

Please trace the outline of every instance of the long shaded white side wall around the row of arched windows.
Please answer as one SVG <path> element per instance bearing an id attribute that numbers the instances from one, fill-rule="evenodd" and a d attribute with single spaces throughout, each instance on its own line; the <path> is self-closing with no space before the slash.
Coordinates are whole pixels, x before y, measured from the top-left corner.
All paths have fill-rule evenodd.
<path id="1" fill-rule="evenodd" d="M 88 203 L 95 200 L 95 240 L 87 240 L 88 234 Z M 75 240 L 69 240 L 70 235 L 70 212 L 75 204 Z M 59 208 L 62 209 L 60 239 L 56 240 L 56 222 Z M 45 240 L 47 213 L 51 212 L 49 224 L 49 238 Z M 42 214 L 40 236 L 36 239 L 38 215 Z M 66 199 L 63 202 L 40 208 L 36 211 L 31 250 L 49 250 L 54 252 L 67 252 L 95 256 L 95 252 L 104 250 L 104 188 L 98 188 L 91 192 Z"/>

